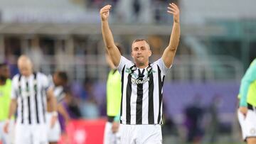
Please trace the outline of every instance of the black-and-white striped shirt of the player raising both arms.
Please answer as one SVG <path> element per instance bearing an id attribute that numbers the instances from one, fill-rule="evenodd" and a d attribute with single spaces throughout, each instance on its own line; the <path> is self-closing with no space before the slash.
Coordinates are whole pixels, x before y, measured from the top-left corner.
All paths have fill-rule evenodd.
<path id="1" fill-rule="evenodd" d="M 169 70 L 164 61 L 139 69 L 121 57 L 117 68 L 122 76 L 120 123 L 162 124 L 163 84 Z"/>

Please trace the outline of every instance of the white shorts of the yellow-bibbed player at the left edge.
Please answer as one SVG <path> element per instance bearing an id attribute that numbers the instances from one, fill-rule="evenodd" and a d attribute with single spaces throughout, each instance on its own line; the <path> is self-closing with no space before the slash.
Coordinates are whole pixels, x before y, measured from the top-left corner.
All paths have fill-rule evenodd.
<path id="1" fill-rule="evenodd" d="M 14 120 L 11 120 L 9 123 L 9 133 L 4 133 L 5 123 L 6 121 L 0 121 L 0 141 L 2 141 L 3 144 L 10 144 L 14 139 Z"/>

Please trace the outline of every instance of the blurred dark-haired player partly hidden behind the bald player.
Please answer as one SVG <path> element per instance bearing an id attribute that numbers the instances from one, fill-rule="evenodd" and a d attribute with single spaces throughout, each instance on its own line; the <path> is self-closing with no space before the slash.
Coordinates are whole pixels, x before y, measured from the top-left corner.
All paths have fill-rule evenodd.
<path id="1" fill-rule="evenodd" d="M 53 77 L 50 77 L 50 82 L 52 83 L 51 87 L 53 87 L 53 94 L 57 99 L 57 109 L 58 112 L 65 118 L 65 124 L 68 123 L 70 117 L 68 116 L 68 112 L 63 107 L 63 104 L 61 103 L 63 99 L 65 98 L 65 88 L 67 87 L 68 83 L 68 75 L 66 72 L 57 71 L 53 74 Z M 50 100 L 48 99 L 47 102 L 49 103 Z M 47 114 L 46 114 L 46 121 L 48 125 L 48 141 L 50 144 L 58 143 L 58 140 L 60 140 L 61 135 L 61 128 L 60 128 L 60 122 L 56 121 L 53 128 L 50 127 L 50 119 L 52 116 L 57 115 L 55 113 L 56 111 L 53 111 L 53 107 L 48 104 L 47 105 Z"/>

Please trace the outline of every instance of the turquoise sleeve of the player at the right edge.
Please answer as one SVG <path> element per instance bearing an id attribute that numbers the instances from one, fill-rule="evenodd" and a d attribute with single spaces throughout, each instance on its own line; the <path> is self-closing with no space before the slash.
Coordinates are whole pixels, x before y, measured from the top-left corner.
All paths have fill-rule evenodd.
<path id="1" fill-rule="evenodd" d="M 250 84 L 256 80 L 256 61 L 250 65 L 242 77 L 240 85 L 240 103 L 239 106 L 247 106 L 247 94 Z"/>

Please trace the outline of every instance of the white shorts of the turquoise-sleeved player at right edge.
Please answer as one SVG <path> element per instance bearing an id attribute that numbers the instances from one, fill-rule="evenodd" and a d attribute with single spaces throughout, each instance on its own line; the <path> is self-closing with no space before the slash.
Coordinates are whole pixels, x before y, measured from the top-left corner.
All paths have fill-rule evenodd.
<path id="1" fill-rule="evenodd" d="M 256 138 L 256 111 L 248 109 L 246 117 L 238 111 L 238 121 L 242 129 L 242 138 Z"/>

